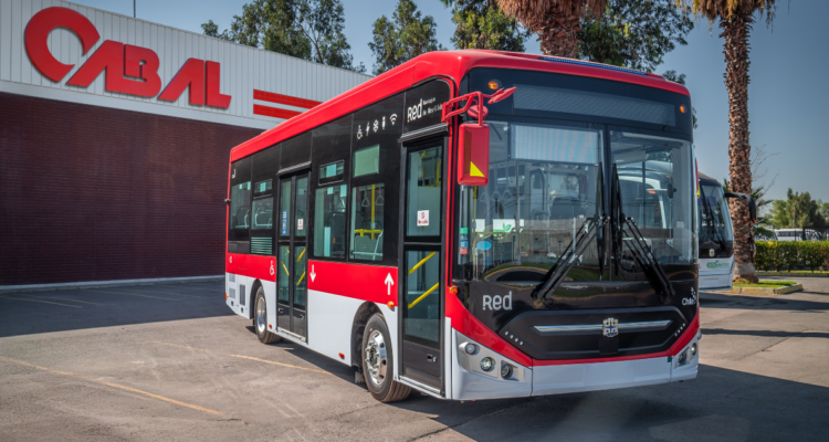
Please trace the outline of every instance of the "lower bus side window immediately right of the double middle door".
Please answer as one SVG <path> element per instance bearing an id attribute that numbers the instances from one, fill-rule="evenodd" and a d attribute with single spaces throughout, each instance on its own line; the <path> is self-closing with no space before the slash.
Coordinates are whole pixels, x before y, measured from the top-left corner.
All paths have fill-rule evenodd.
<path id="1" fill-rule="evenodd" d="M 345 185 L 316 189 L 314 199 L 314 256 L 345 257 Z"/>

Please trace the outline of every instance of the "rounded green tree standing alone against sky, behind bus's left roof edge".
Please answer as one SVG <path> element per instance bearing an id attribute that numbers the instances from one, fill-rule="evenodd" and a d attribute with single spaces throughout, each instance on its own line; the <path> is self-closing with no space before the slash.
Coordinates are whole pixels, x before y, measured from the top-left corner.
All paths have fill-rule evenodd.
<path id="1" fill-rule="evenodd" d="M 430 52 L 442 51 L 436 36 L 437 24 L 431 15 L 421 18 L 411 0 L 399 0 L 391 20 L 386 15 L 375 21 L 374 39 L 368 48 L 375 55 L 375 75 Z"/>

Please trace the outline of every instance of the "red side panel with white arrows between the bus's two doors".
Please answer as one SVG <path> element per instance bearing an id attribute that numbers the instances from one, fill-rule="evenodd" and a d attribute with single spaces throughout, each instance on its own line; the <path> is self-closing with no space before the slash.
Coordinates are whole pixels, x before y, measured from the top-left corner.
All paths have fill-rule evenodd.
<path id="1" fill-rule="evenodd" d="M 372 303 L 398 303 L 397 267 L 308 261 L 305 277 L 308 290 Z"/>

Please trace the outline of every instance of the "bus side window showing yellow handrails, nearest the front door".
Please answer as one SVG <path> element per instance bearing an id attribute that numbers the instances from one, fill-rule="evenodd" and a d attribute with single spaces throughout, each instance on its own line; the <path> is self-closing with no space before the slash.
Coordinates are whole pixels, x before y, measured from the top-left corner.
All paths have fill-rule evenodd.
<path id="1" fill-rule="evenodd" d="M 382 260 L 385 186 L 351 188 L 351 249 L 356 260 Z"/>

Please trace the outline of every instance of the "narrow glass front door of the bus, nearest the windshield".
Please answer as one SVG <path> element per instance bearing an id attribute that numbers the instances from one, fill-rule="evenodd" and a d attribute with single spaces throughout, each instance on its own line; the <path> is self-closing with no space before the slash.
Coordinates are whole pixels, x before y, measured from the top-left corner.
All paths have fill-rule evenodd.
<path id="1" fill-rule="evenodd" d="M 436 392 L 443 379 L 442 208 L 445 138 L 405 144 L 399 286 L 401 375 Z"/>

